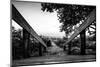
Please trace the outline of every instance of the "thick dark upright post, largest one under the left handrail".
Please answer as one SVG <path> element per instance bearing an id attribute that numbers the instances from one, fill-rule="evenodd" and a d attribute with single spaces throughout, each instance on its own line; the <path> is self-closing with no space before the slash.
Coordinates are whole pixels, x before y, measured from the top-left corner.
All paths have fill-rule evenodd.
<path id="1" fill-rule="evenodd" d="M 28 52 L 29 38 L 30 34 L 27 32 L 27 30 L 23 29 L 24 58 L 27 58 L 29 56 Z"/>

